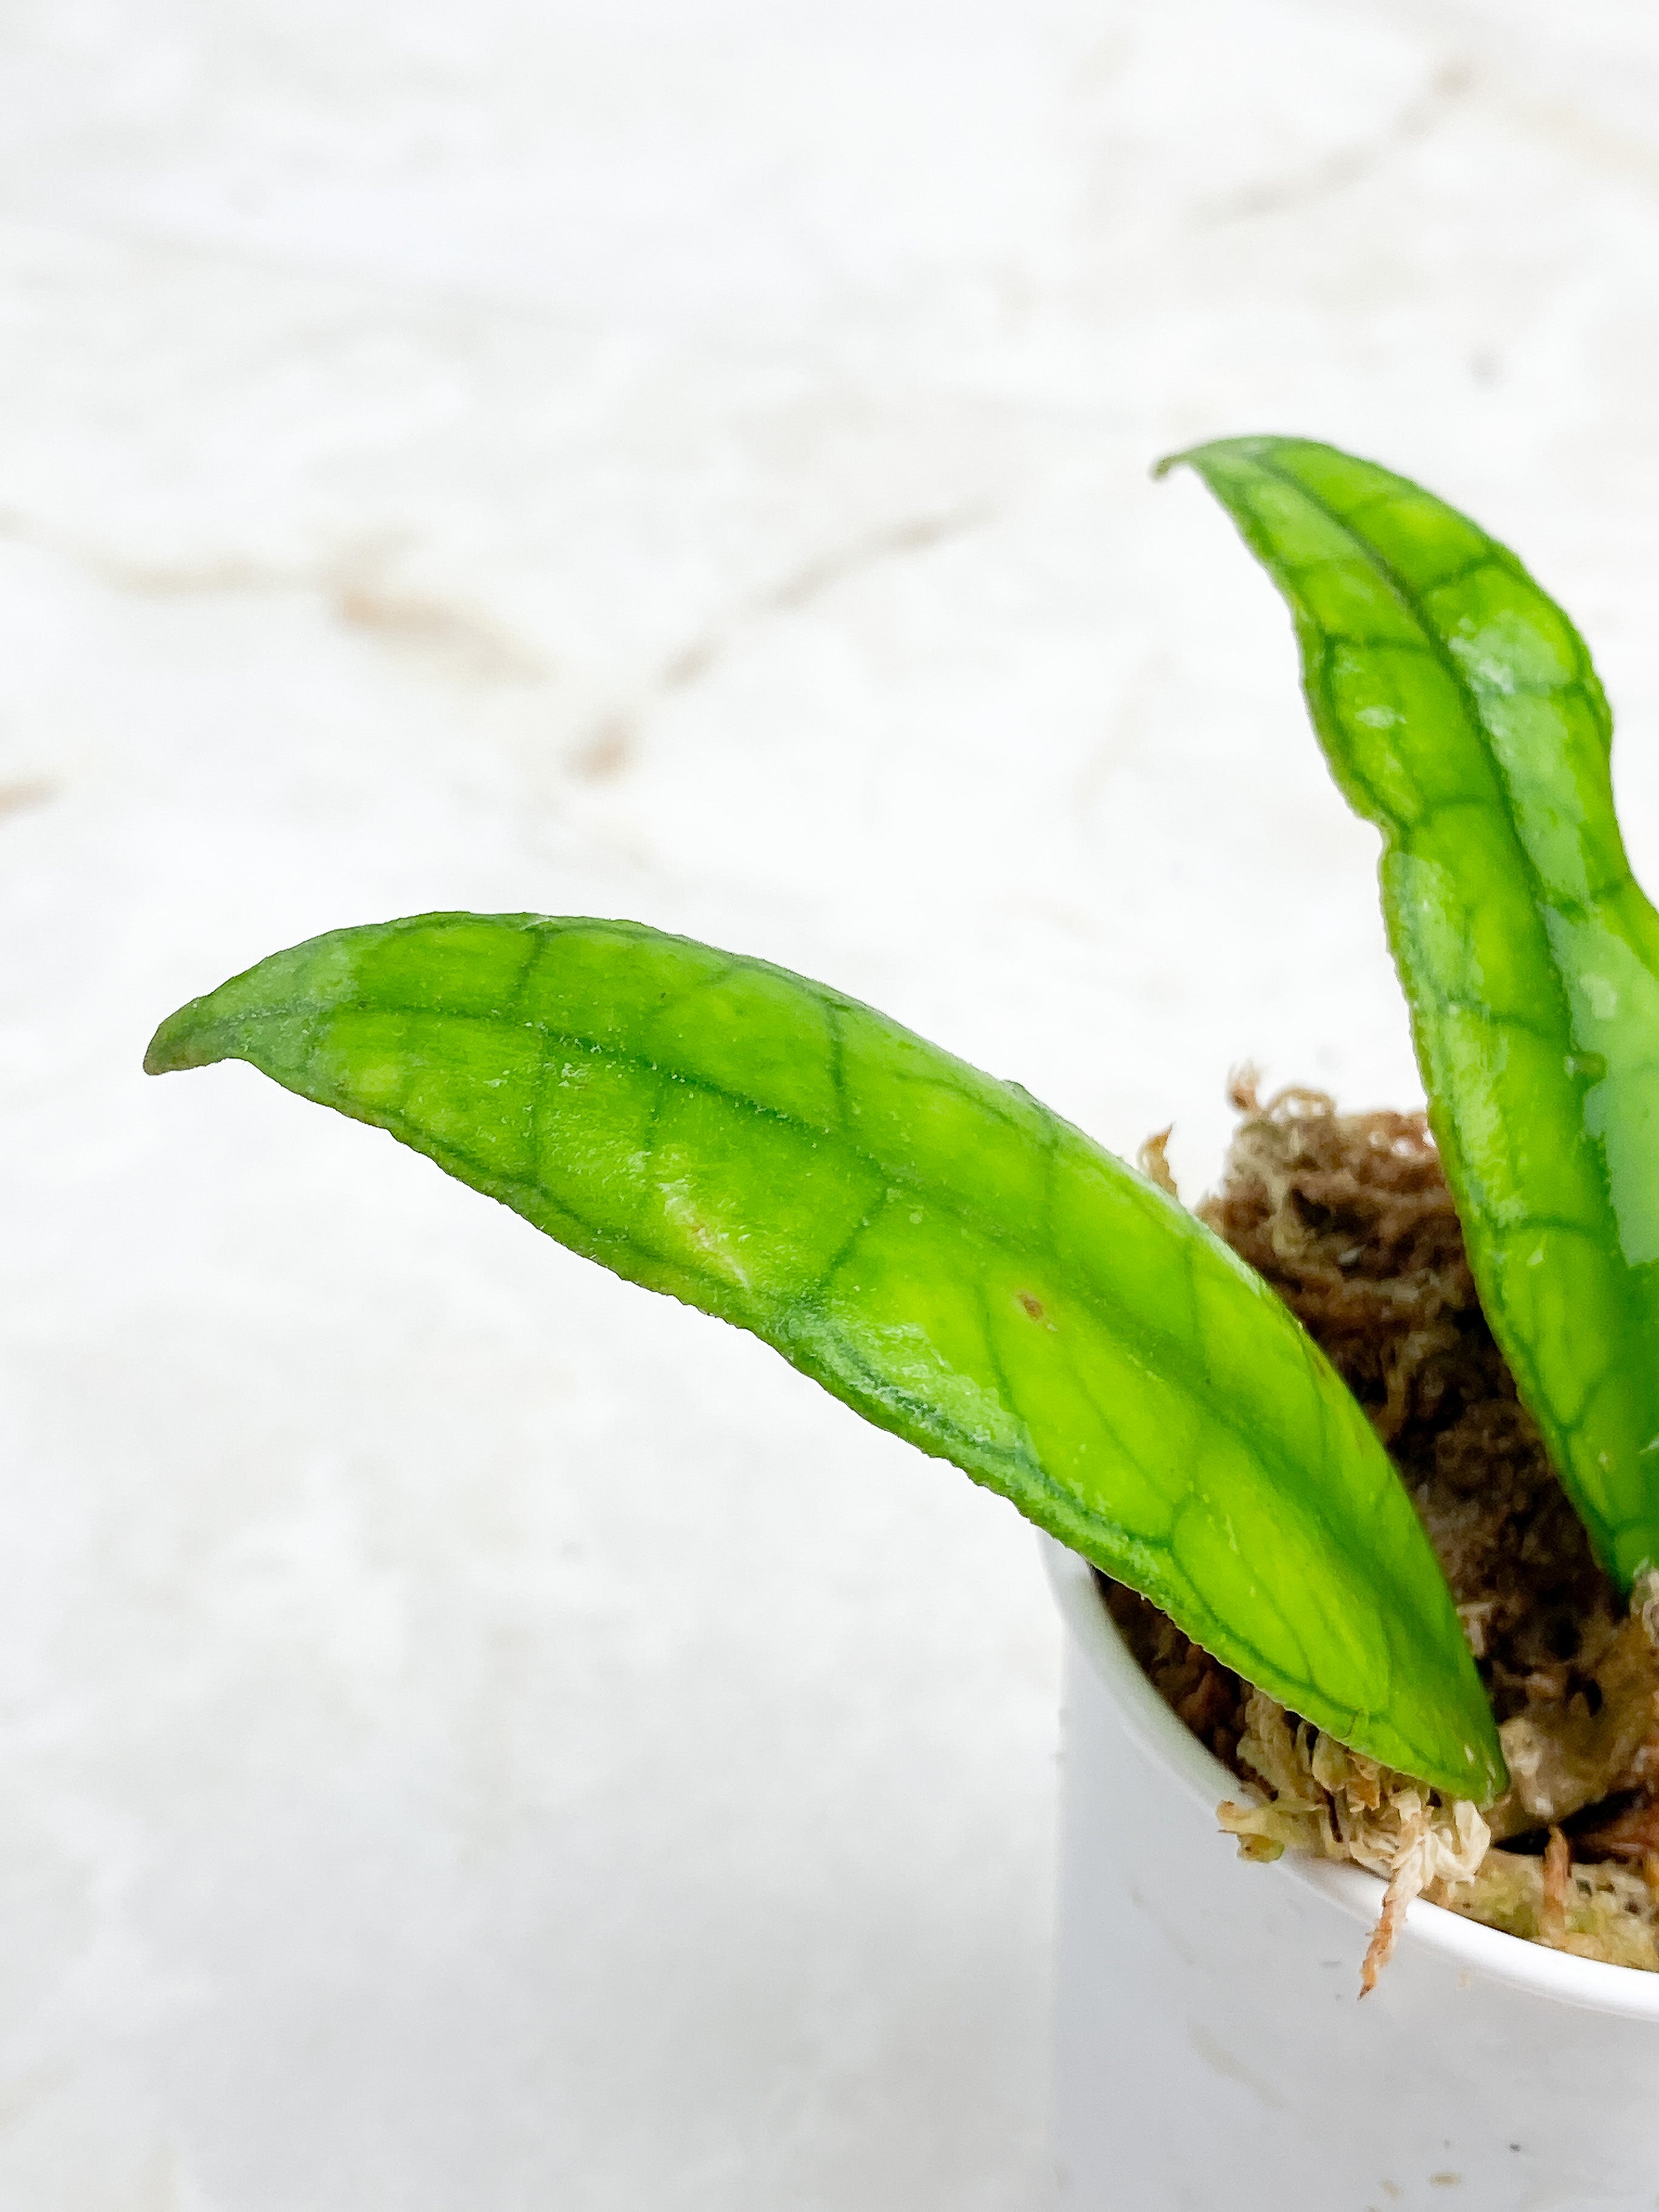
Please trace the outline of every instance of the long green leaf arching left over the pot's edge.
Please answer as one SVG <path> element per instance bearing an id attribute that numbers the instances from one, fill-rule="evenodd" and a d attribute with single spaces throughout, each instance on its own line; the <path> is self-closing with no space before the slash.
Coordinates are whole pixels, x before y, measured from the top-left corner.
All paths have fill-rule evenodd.
<path id="1" fill-rule="evenodd" d="M 164 1022 L 752 1329 L 1343 1743 L 1486 1798 L 1451 1597 L 1354 1398 L 1199 1221 L 1011 1084 L 635 922 L 429 914 Z"/>

